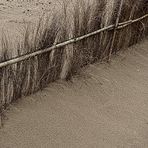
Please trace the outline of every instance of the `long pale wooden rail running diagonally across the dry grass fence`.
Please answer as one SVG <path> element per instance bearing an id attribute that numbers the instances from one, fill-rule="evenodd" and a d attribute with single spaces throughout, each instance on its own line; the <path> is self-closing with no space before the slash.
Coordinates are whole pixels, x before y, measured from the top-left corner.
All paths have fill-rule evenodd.
<path id="1" fill-rule="evenodd" d="M 146 15 L 140 17 L 140 18 L 134 19 L 134 20 L 129 20 L 129 21 L 126 21 L 126 22 L 119 23 L 117 29 L 122 29 L 122 28 L 124 28 L 124 27 L 126 27 L 126 26 L 128 26 L 132 23 L 136 23 L 138 21 L 141 21 L 141 20 L 145 19 L 146 17 L 148 17 L 148 14 L 146 14 Z M 83 35 L 83 36 L 80 36 L 80 37 L 77 37 L 77 38 L 74 38 L 74 39 L 70 39 L 68 41 L 65 41 L 63 43 L 59 43 L 57 45 L 53 45 L 52 47 L 49 47 L 49 48 L 46 48 L 46 49 L 43 49 L 43 50 L 39 50 L 39 51 L 35 51 L 33 53 L 28 53 L 26 55 L 22 55 L 22 56 L 7 60 L 5 62 L 0 63 L 0 68 L 6 67 L 8 65 L 16 64 L 18 62 L 24 61 L 24 60 L 29 59 L 31 57 L 35 57 L 37 55 L 52 51 L 52 50 L 57 49 L 57 48 L 64 47 L 64 46 L 72 44 L 72 43 L 76 43 L 76 42 L 81 41 L 83 39 L 86 39 L 88 37 L 97 35 L 100 32 L 103 32 L 103 31 L 106 31 L 106 30 L 113 30 L 114 27 L 115 27 L 115 25 L 110 25 L 110 26 L 104 27 L 102 29 L 99 29 L 97 31 L 88 33 L 86 35 Z"/>

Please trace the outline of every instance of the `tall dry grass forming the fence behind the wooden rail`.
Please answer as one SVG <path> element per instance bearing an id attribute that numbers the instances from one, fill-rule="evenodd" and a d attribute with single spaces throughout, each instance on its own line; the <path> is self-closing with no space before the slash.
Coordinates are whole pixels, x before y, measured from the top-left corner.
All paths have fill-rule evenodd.
<path id="1" fill-rule="evenodd" d="M 23 40 L 17 45 L 15 57 L 51 47 L 54 44 L 98 30 L 115 22 L 117 0 L 60 1 L 58 11 L 39 19 L 36 27 L 26 26 Z M 134 6 L 133 6 L 134 3 Z M 148 13 L 144 1 L 125 0 L 120 22 Z M 148 34 L 148 20 L 118 32 L 114 51 L 135 44 Z M 109 51 L 112 31 L 30 58 L 0 69 L 0 100 L 2 105 L 44 88 L 62 78 L 70 79 L 82 66 L 104 58 Z M 0 61 L 14 55 L 6 33 L 2 37 Z"/>

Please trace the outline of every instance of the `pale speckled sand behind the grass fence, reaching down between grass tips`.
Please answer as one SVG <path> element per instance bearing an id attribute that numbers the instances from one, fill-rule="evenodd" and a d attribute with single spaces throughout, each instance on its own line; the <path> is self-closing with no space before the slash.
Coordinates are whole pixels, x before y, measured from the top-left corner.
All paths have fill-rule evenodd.
<path id="1" fill-rule="evenodd" d="M 0 0 L 0 37 L 5 32 L 13 46 L 25 32 L 25 27 L 35 25 L 44 13 L 58 9 L 59 0 Z M 17 41 L 17 42 L 16 42 Z M 1 47 L 1 43 L 0 43 Z"/>

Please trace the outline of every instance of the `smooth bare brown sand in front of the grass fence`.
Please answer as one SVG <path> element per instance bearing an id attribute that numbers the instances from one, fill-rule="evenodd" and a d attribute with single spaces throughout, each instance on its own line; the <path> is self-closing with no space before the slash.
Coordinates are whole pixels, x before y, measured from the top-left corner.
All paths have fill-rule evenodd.
<path id="1" fill-rule="evenodd" d="M 6 114 L 0 148 L 148 148 L 148 40 Z"/>

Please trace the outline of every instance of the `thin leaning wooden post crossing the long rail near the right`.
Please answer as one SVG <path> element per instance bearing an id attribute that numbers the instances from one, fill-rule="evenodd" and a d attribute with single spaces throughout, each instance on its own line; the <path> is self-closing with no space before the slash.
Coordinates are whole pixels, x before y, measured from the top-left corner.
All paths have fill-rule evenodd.
<path id="1" fill-rule="evenodd" d="M 112 54 L 112 51 L 113 51 L 114 42 L 115 42 L 115 38 L 116 38 L 116 34 L 117 34 L 117 28 L 118 28 L 118 24 L 119 24 L 119 19 L 120 19 L 120 15 L 121 15 L 121 11 L 122 11 L 123 2 L 124 2 L 124 0 L 120 0 L 119 9 L 118 9 L 118 13 L 117 13 L 117 18 L 116 18 L 116 21 L 115 21 L 115 26 L 114 26 L 114 31 L 113 31 L 113 37 L 112 37 L 111 46 L 110 46 L 109 54 L 108 54 L 108 62 L 110 61 L 111 54 Z"/>

